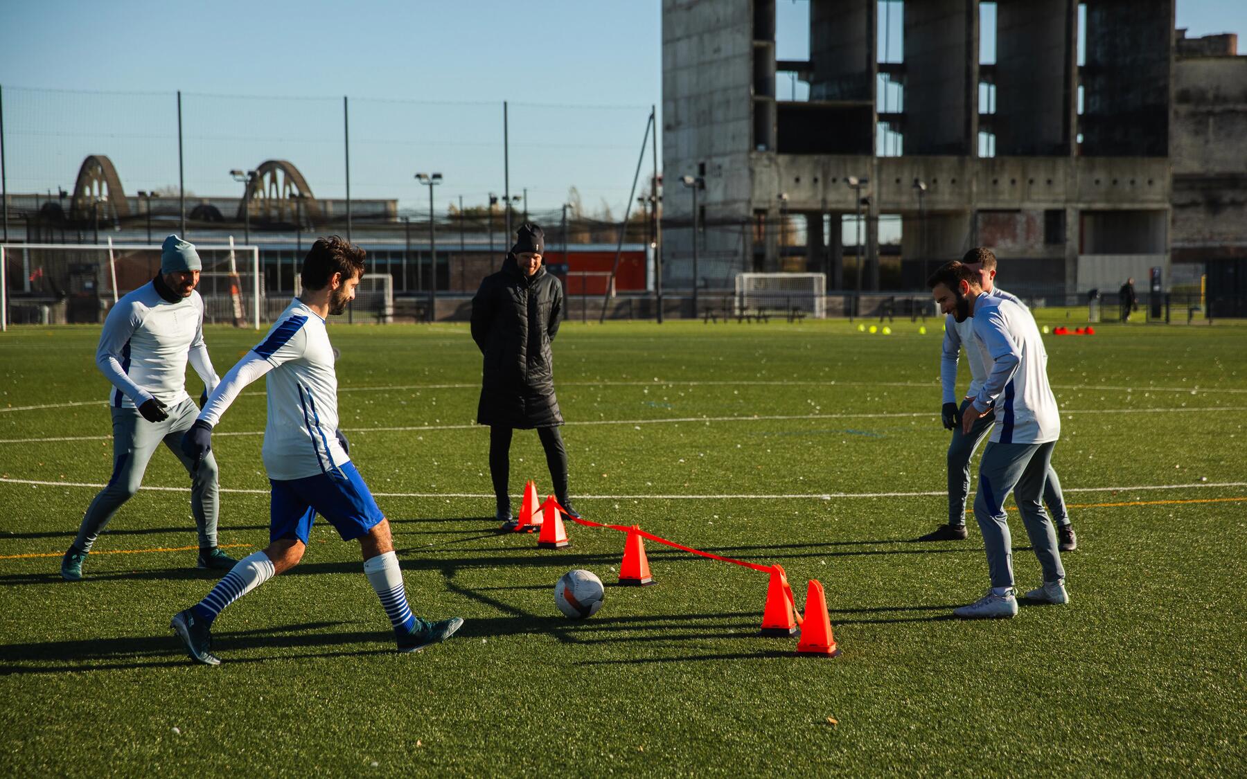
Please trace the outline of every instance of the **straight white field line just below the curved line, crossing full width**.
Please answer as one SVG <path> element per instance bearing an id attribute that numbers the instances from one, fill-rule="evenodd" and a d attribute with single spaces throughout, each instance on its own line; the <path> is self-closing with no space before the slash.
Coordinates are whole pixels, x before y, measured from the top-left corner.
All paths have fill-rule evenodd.
<path id="1" fill-rule="evenodd" d="M 1208 408 L 1165 408 L 1165 409 L 1061 409 L 1061 414 L 1175 414 L 1175 413 L 1203 413 L 1203 411 L 1247 411 L 1247 406 L 1208 406 Z M 567 426 L 600 426 L 600 425 L 666 425 L 681 423 L 756 423 L 756 421 L 792 421 L 803 419 L 935 419 L 938 414 L 932 411 L 897 411 L 875 414 L 756 414 L 753 416 L 670 416 L 663 419 L 592 419 L 582 421 L 564 423 Z M 397 428 L 343 428 L 343 433 L 426 433 L 430 430 L 475 430 L 483 428 L 478 424 L 466 425 L 404 425 Z M 264 435 L 263 430 L 237 430 L 217 433 L 218 436 L 254 436 Z M 0 439 L 0 444 L 50 444 L 57 441 L 111 441 L 111 435 L 69 435 L 40 439 Z"/>

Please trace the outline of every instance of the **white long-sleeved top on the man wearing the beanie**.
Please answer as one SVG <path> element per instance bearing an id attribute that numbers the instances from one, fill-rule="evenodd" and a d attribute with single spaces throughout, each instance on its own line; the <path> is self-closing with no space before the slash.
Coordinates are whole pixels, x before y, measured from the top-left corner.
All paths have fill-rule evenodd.
<path id="1" fill-rule="evenodd" d="M 187 400 L 186 363 L 211 393 L 217 371 L 203 342 L 203 298 L 167 300 L 148 282 L 127 293 L 104 320 L 95 363 L 113 389 L 108 405 L 133 409 L 155 398 L 172 409 Z"/>

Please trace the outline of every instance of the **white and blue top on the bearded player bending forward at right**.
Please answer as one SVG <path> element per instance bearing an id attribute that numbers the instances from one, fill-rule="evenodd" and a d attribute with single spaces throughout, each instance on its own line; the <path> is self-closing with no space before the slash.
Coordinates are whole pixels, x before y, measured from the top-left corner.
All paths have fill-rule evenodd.
<path id="1" fill-rule="evenodd" d="M 1047 384 L 1047 350 L 1034 317 L 1021 303 L 979 295 L 974 302 L 974 343 L 981 350 L 986 379 L 974 408 L 995 406 L 991 441 L 1044 444 L 1061 437 L 1056 396 Z"/>

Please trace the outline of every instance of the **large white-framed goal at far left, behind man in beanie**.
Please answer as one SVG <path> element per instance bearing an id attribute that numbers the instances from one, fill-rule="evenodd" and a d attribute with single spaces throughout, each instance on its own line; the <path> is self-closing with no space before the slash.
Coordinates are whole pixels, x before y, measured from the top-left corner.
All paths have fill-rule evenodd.
<path id="1" fill-rule="evenodd" d="M 205 322 L 258 328 L 264 284 L 256 247 L 195 248 Z M 0 323 L 100 324 L 121 295 L 160 273 L 160 254 L 147 244 L 2 243 Z"/>

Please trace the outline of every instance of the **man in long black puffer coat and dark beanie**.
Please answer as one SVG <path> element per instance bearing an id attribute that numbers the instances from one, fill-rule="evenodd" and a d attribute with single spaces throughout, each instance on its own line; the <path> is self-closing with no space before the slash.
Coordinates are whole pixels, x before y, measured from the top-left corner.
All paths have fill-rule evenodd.
<path id="1" fill-rule="evenodd" d="M 515 522 L 508 479 L 516 428 L 536 428 L 555 497 L 575 514 L 567 500 L 567 450 L 559 435 L 562 414 L 550 353 L 562 318 L 562 284 L 541 267 L 544 252 L 541 228 L 521 226 L 503 269 L 486 277 L 471 300 L 471 337 L 485 356 L 476 421 L 489 425 L 489 471 L 504 528 Z"/>

